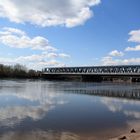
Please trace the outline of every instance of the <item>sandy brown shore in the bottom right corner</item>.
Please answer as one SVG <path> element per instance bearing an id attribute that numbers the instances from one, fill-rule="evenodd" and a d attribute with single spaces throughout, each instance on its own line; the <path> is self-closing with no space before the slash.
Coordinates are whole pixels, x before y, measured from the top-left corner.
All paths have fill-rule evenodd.
<path id="1" fill-rule="evenodd" d="M 109 140 L 140 140 L 140 131 L 136 131 L 136 133 L 127 133 L 120 135 L 116 138 L 112 138 Z"/>

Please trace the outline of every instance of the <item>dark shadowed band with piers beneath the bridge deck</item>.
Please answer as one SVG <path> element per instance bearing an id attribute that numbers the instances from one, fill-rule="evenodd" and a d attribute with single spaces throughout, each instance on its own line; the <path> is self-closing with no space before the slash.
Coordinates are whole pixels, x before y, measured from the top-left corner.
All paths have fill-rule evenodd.
<path id="1" fill-rule="evenodd" d="M 117 82 L 117 83 L 140 82 L 140 77 L 131 77 L 131 76 L 43 74 L 42 77 L 48 80 L 60 80 L 60 81 Z"/>

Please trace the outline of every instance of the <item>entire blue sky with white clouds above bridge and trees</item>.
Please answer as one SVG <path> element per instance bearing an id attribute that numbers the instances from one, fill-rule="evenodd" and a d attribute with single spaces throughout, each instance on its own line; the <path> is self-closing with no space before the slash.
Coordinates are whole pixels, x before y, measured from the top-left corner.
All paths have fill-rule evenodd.
<path id="1" fill-rule="evenodd" d="M 0 1 L 0 64 L 139 65 L 140 0 Z"/>

